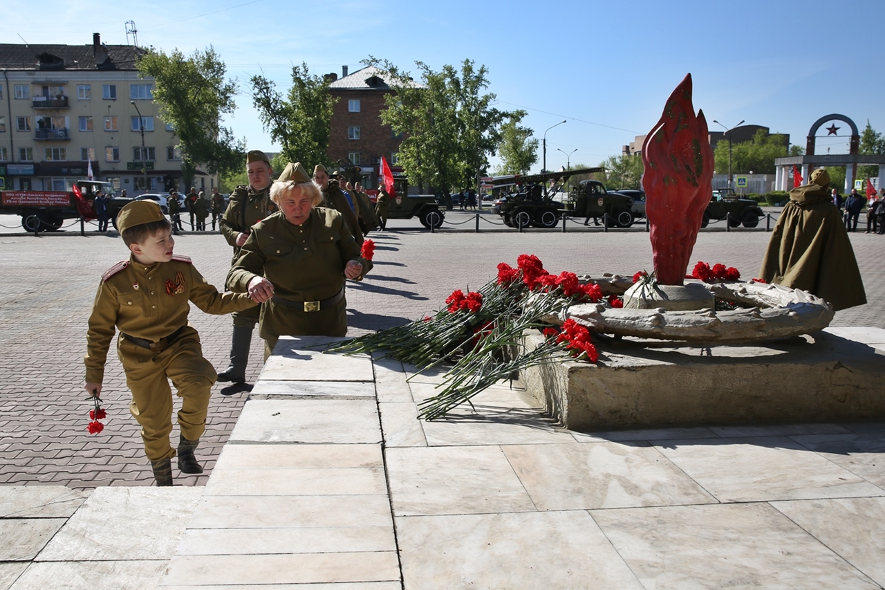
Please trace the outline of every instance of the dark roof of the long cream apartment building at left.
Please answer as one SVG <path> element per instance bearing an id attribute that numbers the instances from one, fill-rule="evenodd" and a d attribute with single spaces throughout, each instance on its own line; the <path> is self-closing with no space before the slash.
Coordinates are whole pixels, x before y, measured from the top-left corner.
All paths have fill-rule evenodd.
<path id="1" fill-rule="evenodd" d="M 109 59 L 96 59 L 89 45 L 23 45 L 0 43 L 0 69 L 3 70 L 135 70 L 135 61 L 146 53 L 134 45 L 101 45 Z M 103 61 L 99 66 L 97 61 Z"/>

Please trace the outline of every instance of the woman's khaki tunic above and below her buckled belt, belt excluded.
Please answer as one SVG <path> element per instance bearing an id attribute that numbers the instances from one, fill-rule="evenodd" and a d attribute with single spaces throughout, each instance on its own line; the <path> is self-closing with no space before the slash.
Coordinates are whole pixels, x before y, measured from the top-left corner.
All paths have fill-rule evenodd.
<path id="1" fill-rule="evenodd" d="M 358 258 L 359 246 L 334 209 L 314 207 L 300 226 L 275 213 L 252 229 L 227 284 L 231 291 L 246 291 L 252 278 L 264 276 L 273 283 L 274 299 L 321 301 L 342 291 L 344 267 Z M 365 275 L 372 263 L 362 264 Z M 344 336 L 346 310 L 346 299 L 315 312 L 271 299 L 261 307 L 261 338 L 272 350 L 280 336 Z"/>

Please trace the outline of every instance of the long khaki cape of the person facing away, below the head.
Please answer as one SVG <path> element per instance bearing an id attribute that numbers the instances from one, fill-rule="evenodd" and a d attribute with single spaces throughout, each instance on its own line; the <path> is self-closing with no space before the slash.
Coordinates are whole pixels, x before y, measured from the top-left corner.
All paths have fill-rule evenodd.
<path id="1" fill-rule="evenodd" d="M 829 189 L 805 184 L 789 191 L 759 276 L 810 291 L 835 311 L 866 303 L 858 260 Z"/>

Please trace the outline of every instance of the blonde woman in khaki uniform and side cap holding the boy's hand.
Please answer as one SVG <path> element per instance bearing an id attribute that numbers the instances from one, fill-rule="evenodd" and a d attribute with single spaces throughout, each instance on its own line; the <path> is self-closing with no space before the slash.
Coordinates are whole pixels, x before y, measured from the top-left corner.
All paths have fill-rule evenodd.
<path id="1" fill-rule="evenodd" d="M 344 336 L 345 277 L 358 280 L 372 268 L 341 213 L 317 206 L 322 194 L 300 163 L 286 167 L 270 196 L 280 211 L 252 227 L 227 276 L 231 291 L 265 302 L 265 358 L 280 336 Z"/>

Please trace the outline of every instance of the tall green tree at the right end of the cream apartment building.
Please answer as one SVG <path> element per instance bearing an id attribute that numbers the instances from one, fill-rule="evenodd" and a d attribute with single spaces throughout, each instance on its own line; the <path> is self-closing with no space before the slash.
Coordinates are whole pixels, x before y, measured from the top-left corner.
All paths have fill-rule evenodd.
<path id="1" fill-rule="evenodd" d="M 154 79 L 153 97 L 160 119 L 172 125 L 181 150 L 185 186 L 193 184 L 198 166 L 210 174 L 242 167 L 244 141 L 236 141 L 221 115 L 233 113 L 235 81 L 226 80 L 226 67 L 212 45 L 185 58 L 179 50 L 168 56 L 149 50 L 138 60 L 138 75 Z"/>

